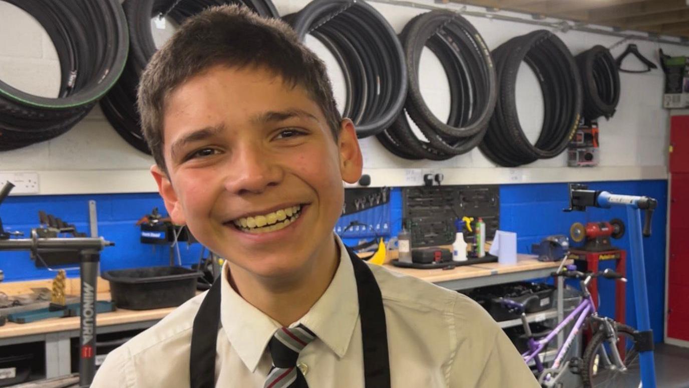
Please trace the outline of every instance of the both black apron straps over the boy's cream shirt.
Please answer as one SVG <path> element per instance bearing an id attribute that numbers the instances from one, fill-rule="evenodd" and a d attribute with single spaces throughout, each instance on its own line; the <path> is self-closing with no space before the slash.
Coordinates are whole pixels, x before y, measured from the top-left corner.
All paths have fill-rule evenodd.
<path id="1" fill-rule="evenodd" d="M 347 248 L 354 266 L 359 297 L 361 339 L 364 351 L 364 383 L 367 388 L 390 387 L 390 361 L 387 345 L 385 311 L 378 282 L 371 269 Z M 189 380 L 192 388 L 215 385 L 215 358 L 220 324 L 220 282 L 216 279 L 201 302 L 194 318 Z"/>

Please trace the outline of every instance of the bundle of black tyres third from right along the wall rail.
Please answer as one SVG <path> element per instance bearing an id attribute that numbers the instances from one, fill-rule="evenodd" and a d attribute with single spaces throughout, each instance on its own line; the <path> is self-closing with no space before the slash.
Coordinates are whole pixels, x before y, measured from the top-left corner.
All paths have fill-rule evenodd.
<path id="1" fill-rule="evenodd" d="M 409 77 L 404 110 L 428 141 L 417 137 L 403 113 L 378 135 L 395 155 L 407 159 L 449 159 L 471 151 L 486 132 L 497 99 L 493 61 L 481 35 L 455 12 L 434 10 L 420 14 L 402 30 Z M 435 117 L 421 95 L 419 61 L 427 47 L 440 60 L 450 88 L 450 115 L 446 122 Z"/>

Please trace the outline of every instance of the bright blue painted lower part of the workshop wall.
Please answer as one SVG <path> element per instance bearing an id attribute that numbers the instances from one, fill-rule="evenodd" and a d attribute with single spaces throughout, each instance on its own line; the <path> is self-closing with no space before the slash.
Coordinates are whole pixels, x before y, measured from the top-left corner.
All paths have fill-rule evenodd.
<path id="1" fill-rule="evenodd" d="M 656 181 L 596 182 L 590 188 L 613 193 L 648 195 L 655 197 L 659 206 L 653 217 L 653 235 L 644 240 L 646 252 L 646 278 L 649 290 L 650 318 L 655 339 L 663 338 L 664 290 L 665 290 L 665 242 L 667 183 Z M 38 211 L 63 218 L 76 224 L 79 231 L 88 231 L 88 200 L 96 200 L 99 217 L 99 235 L 107 237 L 116 246 L 105 249 L 101 255 L 101 269 L 132 268 L 136 266 L 165 265 L 169 262 L 167 246 L 145 245 L 139 242 L 136 220 L 150 213 L 154 206 L 164 212 L 163 201 L 157 194 L 113 194 L 113 195 L 54 195 L 9 197 L 0 206 L 0 216 L 6 229 L 28 233 L 38 224 Z M 566 184 L 514 184 L 500 187 L 500 229 L 517 232 L 517 250 L 530 253 L 531 244 L 553 234 L 568 235 L 574 222 L 593 222 L 618 217 L 626 222 L 624 208 L 596 209 L 586 213 L 564 213 L 568 194 Z M 402 199 L 400 188 L 393 188 L 389 202 L 390 232 L 396 235 L 402 220 Z M 385 220 L 383 220 L 385 221 Z M 346 222 L 347 224 L 349 222 Z M 385 235 L 389 235 L 385 233 Z M 621 240 L 613 240 L 622 249 L 629 249 L 628 234 Z M 347 244 L 356 244 L 358 239 L 347 239 Z M 198 262 L 200 244 L 187 246 L 181 243 L 180 251 L 184 265 Z M 628 260 L 632 260 L 629 258 Z M 628 265 L 628 268 L 630 265 Z M 52 278 L 45 269 L 37 269 L 25 252 L 0 252 L 0 269 L 6 280 L 30 280 Z M 68 276 L 78 273 L 70 272 Z M 627 322 L 635 324 L 633 303 L 633 279 L 627 285 Z M 611 281 L 600 281 L 601 312 L 613 316 L 614 285 Z"/>

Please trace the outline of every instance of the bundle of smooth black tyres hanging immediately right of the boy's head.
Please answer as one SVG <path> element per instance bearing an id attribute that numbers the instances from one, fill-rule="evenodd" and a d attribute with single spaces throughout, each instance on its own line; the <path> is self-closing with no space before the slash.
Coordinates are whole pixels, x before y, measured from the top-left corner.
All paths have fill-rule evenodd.
<path id="1" fill-rule="evenodd" d="M 342 115 L 352 119 L 357 136 L 390 126 L 407 95 L 407 68 L 387 20 L 356 0 L 314 0 L 284 19 L 302 40 L 313 35 L 338 61 L 347 90 Z"/>

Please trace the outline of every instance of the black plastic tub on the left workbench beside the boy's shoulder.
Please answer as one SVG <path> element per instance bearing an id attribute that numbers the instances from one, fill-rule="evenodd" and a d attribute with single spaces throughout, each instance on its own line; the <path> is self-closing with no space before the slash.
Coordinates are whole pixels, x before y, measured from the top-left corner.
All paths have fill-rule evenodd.
<path id="1" fill-rule="evenodd" d="M 121 309 L 176 307 L 196 295 L 200 272 L 181 266 L 150 266 L 105 271 L 112 302 Z"/>

